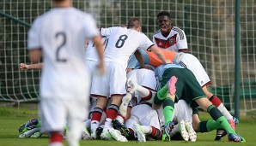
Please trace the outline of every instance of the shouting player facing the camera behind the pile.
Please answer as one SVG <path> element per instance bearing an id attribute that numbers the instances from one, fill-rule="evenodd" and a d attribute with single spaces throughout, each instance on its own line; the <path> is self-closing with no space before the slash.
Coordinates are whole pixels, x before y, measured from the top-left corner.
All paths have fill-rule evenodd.
<path id="1" fill-rule="evenodd" d="M 185 32 L 177 26 L 173 26 L 171 15 L 162 11 L 157 15 L 159 31 L 153 35 L 153 43 L 163 50 L 186 52 L 187 42 Z"/>

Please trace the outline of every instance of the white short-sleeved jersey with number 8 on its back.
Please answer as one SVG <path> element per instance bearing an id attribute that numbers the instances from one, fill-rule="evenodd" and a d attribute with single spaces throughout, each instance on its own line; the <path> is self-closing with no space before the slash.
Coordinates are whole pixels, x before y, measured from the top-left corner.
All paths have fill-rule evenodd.
<path id="1" fill-rule="evenodd" d="M 104 61 L 114 61 L 127 67 L 131 55 L 138 49 L 148 49 L 154 45 L 142 32 L 115 26 L 101 28 L 101 35 L 108 38 L 104 51 Z"/>

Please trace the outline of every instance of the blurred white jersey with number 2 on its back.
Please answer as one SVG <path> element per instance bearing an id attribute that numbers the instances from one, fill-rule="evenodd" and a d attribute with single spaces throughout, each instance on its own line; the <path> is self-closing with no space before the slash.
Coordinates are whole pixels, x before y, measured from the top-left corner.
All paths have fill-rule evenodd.
<path id="1" fill-rule="evenodd" d="M 98 35 L 93 17 L 75 8 L 55 8 L 34 20 L 27 45 L 29 50 L 41 48 L 44 54 L 42 98 L 87 100 L 84 42 Z"/>

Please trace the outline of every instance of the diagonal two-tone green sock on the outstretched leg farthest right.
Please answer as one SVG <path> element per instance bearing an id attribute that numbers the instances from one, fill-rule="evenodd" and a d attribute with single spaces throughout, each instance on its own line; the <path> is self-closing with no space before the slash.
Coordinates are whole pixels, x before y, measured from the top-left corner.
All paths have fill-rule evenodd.
<path id="1" fill-rule="evenodd" d="M 207 112 L 210 114 L 213 120 L 216 121 L 222 128 L 228 133 L 235 133 L 235 131 L 229 125 L 228 120 L 223 116 L 223 114 L 214 106 L 210 105 L 207 108 Z"/>

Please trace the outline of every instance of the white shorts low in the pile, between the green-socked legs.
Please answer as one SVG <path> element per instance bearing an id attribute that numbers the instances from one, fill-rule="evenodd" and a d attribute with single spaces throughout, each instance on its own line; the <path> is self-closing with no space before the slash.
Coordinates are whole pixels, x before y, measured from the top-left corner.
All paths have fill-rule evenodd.
<path id="1" fill-rule="evenodd" d="M 192 122 L 192 108 L 185 100 L 179 100 L 174 104 L 173 121 L 174 123 L 178 123 L 180 120 L 189 120 Z"/>

